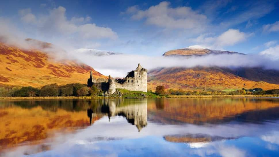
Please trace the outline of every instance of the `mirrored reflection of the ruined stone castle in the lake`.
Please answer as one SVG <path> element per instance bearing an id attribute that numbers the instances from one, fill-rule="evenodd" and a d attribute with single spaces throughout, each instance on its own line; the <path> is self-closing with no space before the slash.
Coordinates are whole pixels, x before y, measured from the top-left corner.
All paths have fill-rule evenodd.
<path id="1" fill-rule="evenodd" d="M 109 121 L 113 116 L 123 116 L 139 132 L 147 125 L 147 99 L 103 99 L 99 103 L 99 107 L 87 110 L 90 124 L 96 116 L 108 116 Z"/>

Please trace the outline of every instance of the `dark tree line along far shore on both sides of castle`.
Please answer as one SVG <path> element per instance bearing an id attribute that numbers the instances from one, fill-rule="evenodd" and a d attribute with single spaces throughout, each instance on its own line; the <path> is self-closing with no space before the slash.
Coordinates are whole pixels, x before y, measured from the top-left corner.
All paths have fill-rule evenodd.
<path id="1" fill-rule="evenodd" d="M 152 90 L 148 90 L 152 92 Z M 156 94 L 164 95 L 264 95 L 279 94 L 279 89 L 263 90 L 262 88 L 240 89 L 231 92 L 223 91 L 185 91 L 182 89 L 165 90 L 164 86 L 157 86 Z M 0 97 L 68 97 L 68 96 L 103 96 L 103 92 L 95 86 L 87 87 L 86 84 L 72 83 L 66 85 L 49 84 L 41 88 L 16 87 L 9 85 L 1 85 Z"/>

